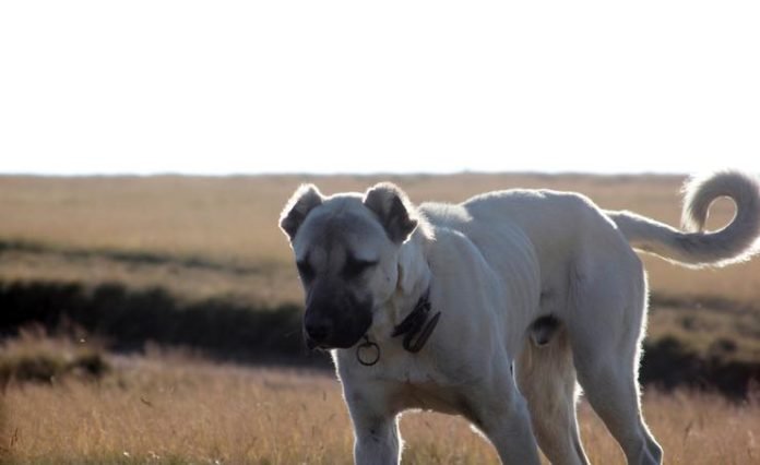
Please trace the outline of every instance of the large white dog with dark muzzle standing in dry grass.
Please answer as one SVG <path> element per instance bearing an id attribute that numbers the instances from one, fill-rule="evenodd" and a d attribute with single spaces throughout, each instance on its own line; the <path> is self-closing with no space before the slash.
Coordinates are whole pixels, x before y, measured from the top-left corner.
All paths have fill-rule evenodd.
<path id="1" fill-rule="evenodd" d="M 706 233 L 719 196 L 736 215 Z M 648 288 L 634 250 L 691 267 L 749 259 L 758 180 L 691 180 L 682 218 L 678 230 L 549 190 L 415 206 L 388 182 L 331 196 L 298 188 L 280 226 L 305 289 L 306 343 L 330 350 L 342 383 L 355 463 L 399 463 L 399 415 L 431 409 L 464 416 L 504 464 L 538 464 L 538 448 L 554 464 L 587 464 L 580 388 L 629 464 L 662 463 L 641 414 Z"/>

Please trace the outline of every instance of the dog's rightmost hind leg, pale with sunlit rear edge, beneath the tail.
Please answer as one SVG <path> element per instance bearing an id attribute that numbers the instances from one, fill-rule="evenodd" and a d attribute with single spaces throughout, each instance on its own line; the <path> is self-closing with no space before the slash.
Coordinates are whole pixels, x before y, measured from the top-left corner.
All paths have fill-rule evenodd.
<path id="1" fill-rule="evenodd" d="M 601 267 L 577 276 L 568 334 L 578 380 L 628 463 L 660 464 L 662 449 L 644 424 L 639 398 L 645 282 L 640 262 L 633 269 L 638 276 L 625 273 L 625 264 L 615 264 L 622 273 Z"/>

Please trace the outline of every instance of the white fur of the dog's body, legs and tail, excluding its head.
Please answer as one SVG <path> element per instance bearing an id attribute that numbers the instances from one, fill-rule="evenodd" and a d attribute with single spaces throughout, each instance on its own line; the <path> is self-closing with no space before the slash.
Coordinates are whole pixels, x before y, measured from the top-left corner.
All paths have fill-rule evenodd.
<path id="1" fill-rule="evenodd" d="M 381 348 L 379 362 L 361 366 L 353 348 L 332 351 L 354 422 L 356 462 L 397 463 L 397 416 L 425 408 L 468 418 L 503 463 L 537 464 L 536 445 L 551 463 L 587 463 L 575 418 L 578 380 L 628 462 L 661 463 L 639 402 L 646 283 L 631 245 L 687 264 L 725 264 L 746 258 L 760 233 L 756 180 L 722 172 L 690 186 L 687 212 L 694 213 L 687 215 L 694 223 L 703 224 L 716 195 L 734 199 L 735 222 L 714 234 L 686 234 L 554 191 L 423 204 L 414 216 L 424 230 L 382 255 L 399 271 L 395 291 L 378 306 L 368 332 Z M 304 229 L 294 239 L 297 251 L 317 234 Z M 389 247 L 377 238 L 367 243 Z M 390 334 L 428 286 L 441 319 L 423 350 L 411 354 Z M 538 347 L 526 336 L 544 315 L 560 327 Z"/>

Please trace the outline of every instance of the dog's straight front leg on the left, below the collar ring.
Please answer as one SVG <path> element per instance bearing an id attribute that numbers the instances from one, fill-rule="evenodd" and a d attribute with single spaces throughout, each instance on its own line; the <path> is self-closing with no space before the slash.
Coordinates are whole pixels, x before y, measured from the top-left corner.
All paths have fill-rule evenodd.
<path id="1" fill-rule="evenodd" d="M 401 461 L 401 436 L 396 413 L 388 408 L 383 392 L 344 388 L 354 424 L 354 462 L 357 465 L 391 465 Z"/>

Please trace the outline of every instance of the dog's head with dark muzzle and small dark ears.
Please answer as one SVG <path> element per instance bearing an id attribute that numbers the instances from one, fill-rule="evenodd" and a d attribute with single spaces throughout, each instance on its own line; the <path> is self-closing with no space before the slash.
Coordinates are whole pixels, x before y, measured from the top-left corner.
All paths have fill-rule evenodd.
<path id="1" fill-rule="evenodd" d="M 399 250 L 417 227 L 415 210 L 391 183 L 364 195 L 322 195 L 301 186 L 280 227 L 290 240 L 306 295 L 304 334 L 310 348 L 348 348 L 394 293 Z"/>

